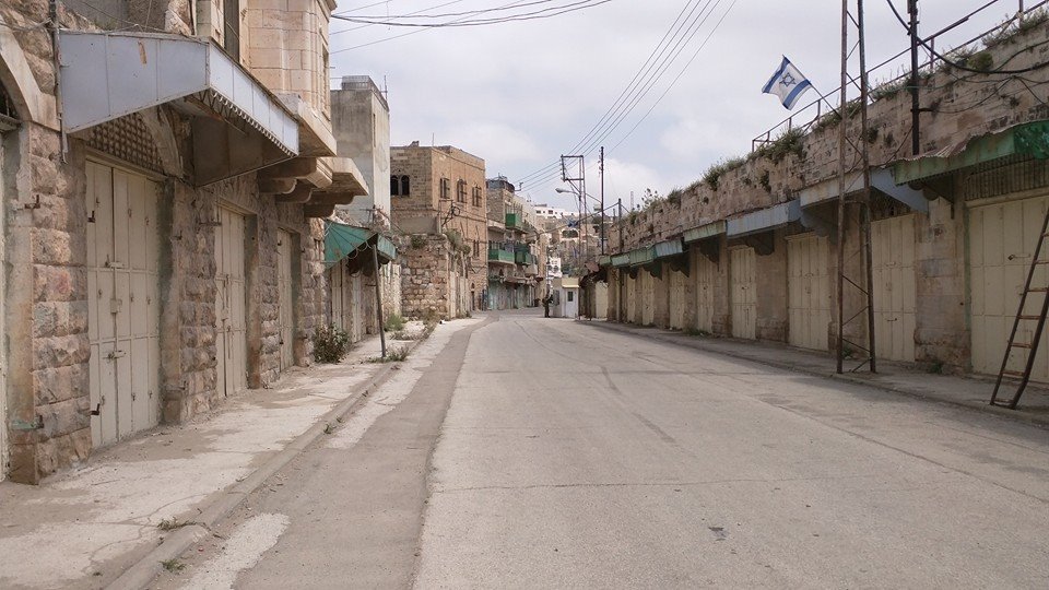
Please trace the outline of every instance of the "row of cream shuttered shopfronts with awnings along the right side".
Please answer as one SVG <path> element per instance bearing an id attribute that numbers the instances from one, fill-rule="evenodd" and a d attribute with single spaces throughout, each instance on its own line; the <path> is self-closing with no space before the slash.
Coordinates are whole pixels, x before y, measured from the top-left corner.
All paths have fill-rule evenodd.
<path id="1" fill-rule="evenodd" d="M 952 157 L 874 173 L 879 358 L 998 374 L 1049 210 L 1046 145 L 1049 126 L 1029 123 Z M 836 220 L 836 186 L 830 180 L 792 201 L 608 257 L 609 318 L 836 350 L 838 252 L 836 224 L 826 221 Z M 847 276 L 849 257 L 859 256 L 857 235 L 846 239 Z M 1049 286 L 1046 267 L 1035 267 L 1034 286 Z M 846 282 L 847 302 L 851 288 Z M 1037 315 L 1041 302 L 1030 297 L 1024 314 Z M 861 309 L 847 305 L 846 318 L 853 311 Z M 1035 323 L 1021 322 L 1017 339 L 1033 337 Z M 1033 373 L 1038 381 L 1049 381 L 1046 340 Z M 1022 366 L 1026 354 L 1012 351 L 1009 366 Z"/>

